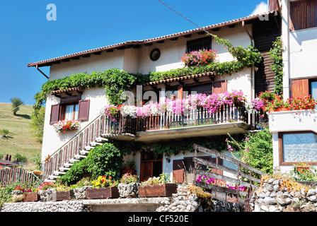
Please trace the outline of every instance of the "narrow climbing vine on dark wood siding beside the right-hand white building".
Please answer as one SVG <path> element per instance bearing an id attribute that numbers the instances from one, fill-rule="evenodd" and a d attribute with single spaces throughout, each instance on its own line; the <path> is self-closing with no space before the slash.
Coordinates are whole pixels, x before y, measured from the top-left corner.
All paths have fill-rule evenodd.
<path id="1" fill-rule="evenodd" d="M 282 52 L 284 52 L 281 37 L 277 37 L 273 42 L 273 48 L 270 49 L 270 57 L 273 59 L 273 64 L 270 69 L 275 73 L 275 90 L 277 95 L 283 94 L 283 58 Z"/>

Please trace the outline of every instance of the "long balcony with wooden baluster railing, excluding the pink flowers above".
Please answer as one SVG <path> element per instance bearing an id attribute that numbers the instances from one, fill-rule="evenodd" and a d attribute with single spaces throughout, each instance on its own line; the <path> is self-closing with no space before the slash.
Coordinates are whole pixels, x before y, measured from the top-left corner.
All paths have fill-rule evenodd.
<path id="1" fill-rule="evenodd" d="M 120 141 L 163 141 L 175 138 L 246 133 L 261 121 L 260 114 L 249 114 L 241 105 L 221 105 L 215 112 L 192 109 L 186 114 L 151 114 L 129 117 L 118 114 L 115 119 L 103 117 L 103 138 Z"/>

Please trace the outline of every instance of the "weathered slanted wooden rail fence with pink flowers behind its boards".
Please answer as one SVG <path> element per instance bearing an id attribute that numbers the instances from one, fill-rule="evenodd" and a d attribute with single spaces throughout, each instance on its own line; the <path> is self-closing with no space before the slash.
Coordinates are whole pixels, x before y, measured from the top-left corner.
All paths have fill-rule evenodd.
<path id="1" fill-rule="evenodd" d="M 262 172 L 259 169 L 250 167 L 249 165 L 246 165 L 245 163 L 239 160 L 236 160 L 233 157 L 222 155 L 221 153 L 217 151 L 204 148 L 197 144 L 194 144 L 194 150 L 195 150 L 195 157 L 193 157 L 193 162 L 195 162 L 194 174 L 195 174 L 196 186 L 200 186 L 204 189 L 210 189 L 216 192 L 222 191 L 226 194 L 234 194 L 237 197 L 237 201 L 238 201 L 239 195 L 250 196 L 250 193 L 249 193 L 250 191 L 253 191 L 253 189 L 258 189 L 257 184 L 260 184 L 260 179 L 255 178 L 253 176 L 255 174 L 259 174 L 260 176 L 262 176 L 263 174 L 265 174 L 265 172 Z M 200 157 L 197 157 L 197 151 L 201 151 L 203 153 L 207 153 L 209 155 L 215 156 L 216 162 L 211 162 L 208 160 L 204 160 Z M 219 165 L 218 163 L 220 162 L 220 160 L 222 160 L 221 162 L 224 162 L 224 160 L 226 160 L 227 162 L 231 162 L 234 165 L 236 165 L 238 169 L 231 169 L 229 167 Z M 199 169 L 199 165 L 206 165 L 207 167 L 212 167 L 213 169 L 217 169 L 217 170 L 213 170 L 213 172 L 204 171 Z M 249 173 L 246 174 L 245 172 L 241 172 L 242 167 L 248 170 Z M 219 170 L 221 170 L 222 172 L 228 172 L 229 174 L 232 175 L 232 177 L 227 177 L 227 176 L 224 176 L 223 174 L 217 174 Z M 197 182 L 197 178 L 199 177 L 199 175 L 211 177 L 215 179 L 216 182 L 214 184 L 207 184 L 205 182 Z M 245 180 L 242 180 L 242 178 Z M 240 191 L 239 189 L 230 189 L 224 186 L 217 186 L 218 179 L 221 181 L 226 181 L 226 182 L 236 184 L 237 187 L 244 186 L 247 188 L 247 191 Z M 248 182 L 246 182 L 246 179 L 248 180 Z"/>

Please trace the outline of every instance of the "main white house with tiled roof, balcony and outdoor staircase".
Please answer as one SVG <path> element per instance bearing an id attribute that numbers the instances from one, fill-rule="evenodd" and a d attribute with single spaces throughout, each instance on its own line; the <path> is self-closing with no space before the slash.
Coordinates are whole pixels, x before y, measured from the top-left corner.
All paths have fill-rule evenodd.
<path id="1" fill-rule="evenodd" d="M 253 44 L 263 55 L 263 61 L 256 66 L 234 71 L 231 75 L 226 73 L 219 75 L 209 71 L 147 81 L 140 84 L 141 91 L 138 90 L 140 86 L 137 86 L 131 92 L 136 95 L 138 91 L 141 92 L 142 100 L 149 100 L 150 95 L 151 97 L 156 95 L 157 101 L 163 101 L 168 92 L 175 95 L 176 99 L 182 99 L 186 95 L 185 92 L 195 91 L 210 95 L 242 90 L 246 100 L 250 102 L 261 91 L 274 88 L 274 73 L 267 70 L 272 64 L 268 53 L 272 42 L 280 35 L 280 15 L 277 7 L 271 7 L 269 12 L 260 15 L 238 18 L 162 37 L 112 44 L 30 63 L 28 66 L 36 67 L 39 71 L 42 66 L 50 66 L 49 80 L 54 81 L 78 73 L 90 74 L 108 69 L 119 69 L 132 74 L 170 71 L 184 67 L 181 61 L 184 52 L 198 49 L 216 50 L 217 59 L 215 60 L 219 62 L 234 60 L 234 57 L 224 49 L 223 44 L 216 42 L 214 37 L 206 35 L 205 30 L 207 30 L 229 40 L 234 46 L 248 47 Z M 146 94 L 146 92 L 149 93 Z M 212 139 L 215 138 L 214 136 L 226 133 L 240 134 L 255 129 L 255 115 L 246 113 L 245 108 L 238 110 L 228 107 L 209 118 L 206 118 L 205 112 L 191 112 L 183 118 L 187 120 L 186 123 L 176 121 L 173 118 L 174 115 L 167 117 L 151 115 L 142 120 L 122 117 L 118 119 L 118 123 L 113 123 L 100 115 L 100 110 L 107 103 L 108 97 L 105 95 L 104 87 L 67 87 L 53 90 L 47 95 L 42 160 L 49 155 L 50 159 L 47 159 L 48 162 L 45 165 L 45 179 L 54 179 L 63 174 L 69 169 L 71 162 L 84 157 L 93 146 L 111 139 L 135 141 L 151 146 L 166 141 L 179 141 L 182 138 Z M 64 119 L 80 121 L 81 129 L 57 133 L 53 124 Z M 207 119 L 211 123 L 200 124 L 202 119 Z M 169 129 L 164 129 L 166 124 L 169 125 Z M 230 155 L 226 150 L 224 153 Z M 202 155 L 202 153 L 199 154 Z M 192 155 L 188 150 L 183 150 L 175 156 L 163 153 L 158 157 L 151 152 L 140 150 L 125 156 L 125 160 L 136 162 L 137 174 L 140 175 L 142 181 L 166 172 L 174 181 L 183 182 L 182 172 L 183 169 L 190 170 Z M 212 156 L 206 157 L 216 161 L 216 158 Z M 222 164 L 230 166 L 227 162 Z"/>

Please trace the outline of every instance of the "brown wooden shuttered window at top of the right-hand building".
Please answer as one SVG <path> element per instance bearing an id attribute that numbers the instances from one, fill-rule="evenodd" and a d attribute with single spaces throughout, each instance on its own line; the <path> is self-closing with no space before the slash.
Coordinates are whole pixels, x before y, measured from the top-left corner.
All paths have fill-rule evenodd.
<path id="1" fill-rule="evenodd" d="M 317 27 L 317 0 L 291 1 L 290 21 L 291 30 Z"/>

